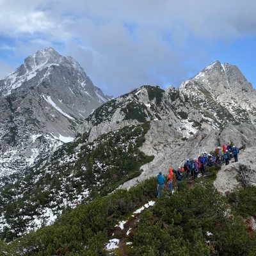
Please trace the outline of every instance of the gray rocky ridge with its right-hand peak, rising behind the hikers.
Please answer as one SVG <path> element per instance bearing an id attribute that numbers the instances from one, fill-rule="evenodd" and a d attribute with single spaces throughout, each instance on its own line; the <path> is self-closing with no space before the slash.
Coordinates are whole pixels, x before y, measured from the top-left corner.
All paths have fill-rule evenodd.
<path id="1" fill-rule="evenodd" d="M 255 90 L 237 67 L 215 61 L 179 90 L 142 86 L 111 100 L 85 120 L 81 131 L 89 132 L 92 141 L 126 125 L 150 122 L 141 150 L 155 158 L 142 166 L 140 177 L 122 185 L 129 188 L 220 143 L 255 145 L 255 99 Z"/>

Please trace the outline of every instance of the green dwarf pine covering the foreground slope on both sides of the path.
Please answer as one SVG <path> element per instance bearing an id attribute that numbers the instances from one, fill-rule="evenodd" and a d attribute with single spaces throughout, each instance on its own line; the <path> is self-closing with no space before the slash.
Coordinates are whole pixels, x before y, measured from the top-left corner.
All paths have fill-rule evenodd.
<path id="1" fill-rule="evenodd" d="M 164 192 L 153 208 L 140 214 L 122 250 L 115 249 L 114 255 L 255 255 L 255 232 L 248 235 L 243 218 L 237 211 L 227 210 L 227 199 L 211 181 L 200 178 L 188 186 L 184 180 L 179 191 L 177 184 L 174 189 L 173 195 Z M 156 190 L 156 179 L 152 178 L 129 191 L 118 190 L 96 198 L 63 212 L 54 225 L 11 244 L 1 242 L 1 252 L 29 256 L 109 255 L 105 246 L 113 238 L 115 225 L 156 198 Z M 239 198 L 247 198 L 242 200 L 247 211 L 256 198 L 255 189 L 237 193 Z"/>

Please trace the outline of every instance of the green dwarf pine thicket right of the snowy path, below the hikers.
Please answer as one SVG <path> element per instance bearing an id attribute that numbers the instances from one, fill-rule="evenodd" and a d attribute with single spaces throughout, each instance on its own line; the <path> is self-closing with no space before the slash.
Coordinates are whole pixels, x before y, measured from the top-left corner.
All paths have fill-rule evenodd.
<path id="1" fill-rule="evenodd" d="M 166 194 L 152 212 L 141 214 L 131 255 L 250 255 L 255 239 L 241 218 L 228 218 L 226 211 L 225 198 L 211 182 L 198 179 L 193 188 Z"/>

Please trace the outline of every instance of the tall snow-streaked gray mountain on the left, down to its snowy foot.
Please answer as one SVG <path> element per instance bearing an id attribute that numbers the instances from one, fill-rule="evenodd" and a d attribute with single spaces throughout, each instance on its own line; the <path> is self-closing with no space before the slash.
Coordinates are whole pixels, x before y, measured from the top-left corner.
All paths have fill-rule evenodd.
<path id="1" fill-rule="evenodd" d="M 77 125 L 108 100 L 74 58 L 51 47 L 26 58 L 0 81 L 0 175 L 74 140 Z"/>

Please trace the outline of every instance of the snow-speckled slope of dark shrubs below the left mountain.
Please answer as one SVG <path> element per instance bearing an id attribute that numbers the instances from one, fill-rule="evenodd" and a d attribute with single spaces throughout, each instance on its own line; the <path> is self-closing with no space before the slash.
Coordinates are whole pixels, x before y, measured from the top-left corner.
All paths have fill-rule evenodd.
<path id="1" fill-rule="evenodd" d="M 152 161 L 140 151 L 150 128 L 127 126 L 87 141 L 84 134 L 61 147 L 43 166 L 0 188 L 0 239 L 12 241 L 28 230 L 49 224 L 50 216 L 66 207 L 108 195 L 120 184 L 140 175 Z M 4 227 L 4 228 L 3 228 Z"/>

